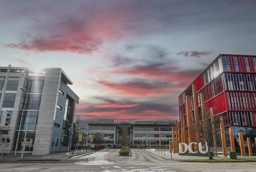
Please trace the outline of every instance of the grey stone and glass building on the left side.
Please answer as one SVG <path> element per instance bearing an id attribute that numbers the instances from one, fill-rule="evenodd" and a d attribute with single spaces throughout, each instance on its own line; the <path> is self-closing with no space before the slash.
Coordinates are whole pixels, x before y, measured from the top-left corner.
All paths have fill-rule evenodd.
<path id="1" fill-rule="evenodd" d="M 11 139 L 5 153 L 49 154 L 54 140 L 55 151 L 68 150 L 79 102 L 70 84 L 61 68 L 0 67 L 0 137 Z"/>

